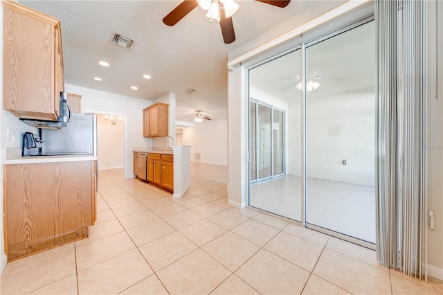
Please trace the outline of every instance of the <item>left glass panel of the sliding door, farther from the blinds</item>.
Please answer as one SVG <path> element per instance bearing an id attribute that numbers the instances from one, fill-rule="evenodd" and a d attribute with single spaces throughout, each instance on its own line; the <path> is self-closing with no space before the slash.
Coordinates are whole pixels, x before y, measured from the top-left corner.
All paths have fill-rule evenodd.
<path id="1" fill-rule="evenodd" d="M 301 220 L 300 49 L 249 71 L 249 206 Z"/>

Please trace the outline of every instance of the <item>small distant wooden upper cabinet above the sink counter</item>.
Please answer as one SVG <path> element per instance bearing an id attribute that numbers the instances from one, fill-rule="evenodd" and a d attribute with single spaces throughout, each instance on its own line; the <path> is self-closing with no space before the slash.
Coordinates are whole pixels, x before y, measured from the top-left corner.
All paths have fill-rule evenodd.
<path id="1" fill-rule="evenodd" d="M 143 109 L 143 136 L 168 136 L 169 105 L 157 102 Z"/>

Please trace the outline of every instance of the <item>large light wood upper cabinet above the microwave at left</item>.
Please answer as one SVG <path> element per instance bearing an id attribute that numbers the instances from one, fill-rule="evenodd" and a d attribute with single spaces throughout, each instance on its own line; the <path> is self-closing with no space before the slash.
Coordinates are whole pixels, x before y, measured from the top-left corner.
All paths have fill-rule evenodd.
<path id="1" fill-rule="evenodd" d="M 64 91 L 60 21 L 14 1 L 3 6 L 3 108 L 57 120 Z"/>

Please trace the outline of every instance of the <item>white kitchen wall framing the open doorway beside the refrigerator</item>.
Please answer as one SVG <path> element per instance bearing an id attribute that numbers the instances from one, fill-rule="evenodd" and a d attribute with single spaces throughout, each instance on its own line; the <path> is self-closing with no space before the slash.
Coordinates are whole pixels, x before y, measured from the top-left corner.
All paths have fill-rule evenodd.
<path id="1" fill-rule="evenodd" d="M 134 177 L 132 148 L 152 146 L 151 138 L 143 137 L 143 109 L 152 105 L 152 101 L 71 84 L 64 86 L 66 92 L 82 96 L 82 112 L 123 116 L 125 120 L 125 177 Z"/>

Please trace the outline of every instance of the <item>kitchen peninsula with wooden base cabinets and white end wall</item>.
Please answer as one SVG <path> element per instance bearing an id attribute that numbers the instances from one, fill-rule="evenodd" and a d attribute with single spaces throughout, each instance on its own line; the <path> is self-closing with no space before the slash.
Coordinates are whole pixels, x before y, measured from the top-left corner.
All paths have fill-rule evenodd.
<path id="1" fill-rule="evenodd" d="M 190 186 L 190 145 L 134 147 L 134 175 L 181 197 Z"/>

